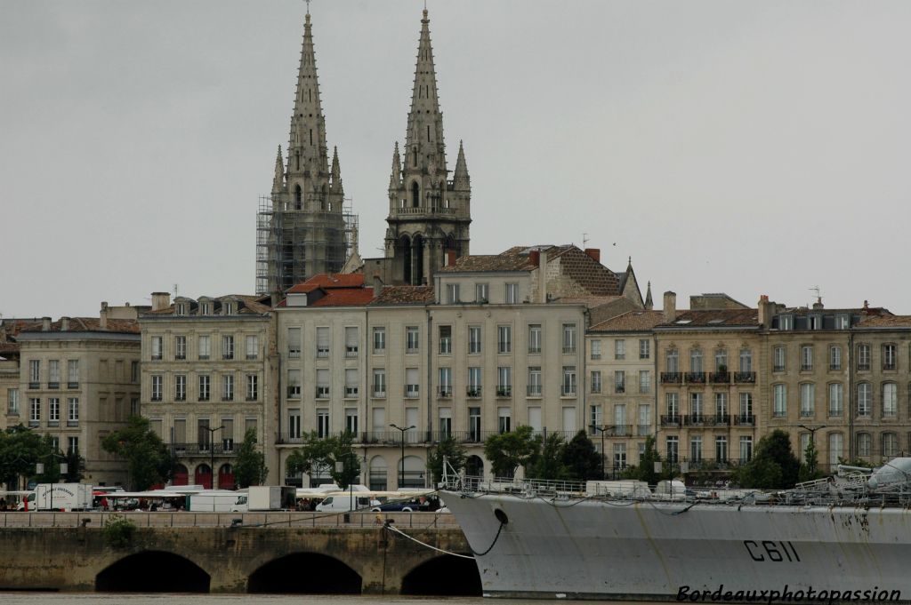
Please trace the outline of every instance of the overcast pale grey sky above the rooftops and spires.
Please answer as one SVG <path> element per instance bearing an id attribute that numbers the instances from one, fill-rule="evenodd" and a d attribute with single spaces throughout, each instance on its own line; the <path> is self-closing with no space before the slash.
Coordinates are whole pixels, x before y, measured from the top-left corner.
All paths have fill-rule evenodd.
<path id="1" fill-rule="evenodd" d="M 314 0 L 329 146 L 382 246 L 419 0 Z M 429 0 L 471 249 L 600 247 L 656 302 L 911 313 L 911 3 Z M 0 313 L 252 293 L 302 0 L 0 0 Z M 644 292 L 643 292 L 644 293 Z"/>

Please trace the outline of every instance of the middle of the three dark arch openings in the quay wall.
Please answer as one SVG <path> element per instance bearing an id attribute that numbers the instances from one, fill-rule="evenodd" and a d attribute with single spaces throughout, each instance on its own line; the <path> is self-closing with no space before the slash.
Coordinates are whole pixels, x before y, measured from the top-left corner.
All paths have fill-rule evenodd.
<path id="1" fill-rule="evenodd" d="M 340 560 L 316 552 L 294 552 L 254 571 L 247 592 L 361 594 L 362 583 L 361 575 Z"/>

